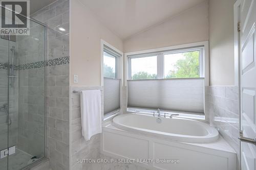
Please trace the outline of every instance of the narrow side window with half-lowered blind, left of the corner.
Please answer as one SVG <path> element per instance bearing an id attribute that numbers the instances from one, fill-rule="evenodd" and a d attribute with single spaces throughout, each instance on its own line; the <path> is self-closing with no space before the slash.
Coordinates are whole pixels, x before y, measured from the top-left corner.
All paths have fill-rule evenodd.
<path id="1" fill-rule="evenodd" d="M 120 110 L 120 77 L 118 69 L 122 55 L 113 47 L 103 45 L 103 90 L 104 116 L 112 115 Z"/>

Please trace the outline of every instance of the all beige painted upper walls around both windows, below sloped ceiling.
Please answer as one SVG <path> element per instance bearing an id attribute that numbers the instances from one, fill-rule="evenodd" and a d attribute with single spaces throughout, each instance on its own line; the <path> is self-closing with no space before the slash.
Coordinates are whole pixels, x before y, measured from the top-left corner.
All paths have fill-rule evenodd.
<path id="1" fill-rule="evenodd" d="M 100 85 L 101 38 L 125 53 L 209 40 L 210 85 L 234 85 L 234 1 L 206 0 L 124 41 L 79 0 L 71 1 L 71 85 Z M 74 74 L 78 75 L 78 84 L 73 83 Z"/>

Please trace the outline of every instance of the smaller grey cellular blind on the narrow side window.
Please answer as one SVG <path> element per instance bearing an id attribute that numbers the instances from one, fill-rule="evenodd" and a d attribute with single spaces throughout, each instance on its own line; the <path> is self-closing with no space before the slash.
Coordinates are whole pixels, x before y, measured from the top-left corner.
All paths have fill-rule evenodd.
<path id="1" fill-rule="evenodd" d="M 120 109 L 120 79 L 104 78 L 104 115 Z"/>

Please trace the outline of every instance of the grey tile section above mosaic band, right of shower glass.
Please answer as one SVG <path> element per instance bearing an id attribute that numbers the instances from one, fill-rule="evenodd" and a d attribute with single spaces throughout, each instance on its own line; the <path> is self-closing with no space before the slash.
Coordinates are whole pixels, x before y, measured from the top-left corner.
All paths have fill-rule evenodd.
<path id="1" fill-rule="evenodd" d="M 69 56 L 69 1 L 58 0 L 31 17 L 48 26 L 48 59 Z"/>

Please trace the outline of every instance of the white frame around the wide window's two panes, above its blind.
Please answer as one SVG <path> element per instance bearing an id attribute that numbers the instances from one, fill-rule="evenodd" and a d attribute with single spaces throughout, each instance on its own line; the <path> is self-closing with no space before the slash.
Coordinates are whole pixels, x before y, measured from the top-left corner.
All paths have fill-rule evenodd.
<path id="1" fill-rule="evenodd" d="M 154 54 L 138 54 L 129 56 L 126 54 L 127 61 L 128 61 L 128 76 L 127 80 L 132 79 L 132 59 L 134 58 L 143 58 L 143 57 L 152 57 L 157 56 L 157 79 L 166 79 L 164 78 L 164 55 L 168 54 L 177 54 L 177 53 L 187 53 L 187 52 L 194 52 L 199 51 L 199 78 L 204 78 L 204 46 L 199 47 L 186 47 L 183 49 L 172 49 L 169 51 L 159 51 Z M 183 78 L 186 79 L 186 78 Z"/>

